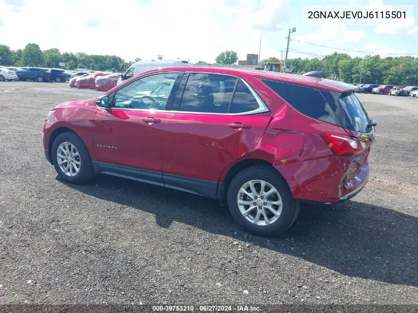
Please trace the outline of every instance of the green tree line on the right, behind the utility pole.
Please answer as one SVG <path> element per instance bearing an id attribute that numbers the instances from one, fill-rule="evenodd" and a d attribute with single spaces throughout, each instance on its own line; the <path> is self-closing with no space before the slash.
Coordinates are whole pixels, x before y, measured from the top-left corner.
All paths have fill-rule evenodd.
<path id="1" fill-rule="evenodd" d="M 260 61 L 279 62 L 276 57 Z M 287 59 L 287 68 L 293 73 L 303 74 L 310 71 L 323 71 L 325 78 L 345 83 L 391 84 L 418 86 L 418 58 L 396 56 L 381 58 L 380 55 L 366 55 L 351 58 L 346 53 L 327 55 L 321 59 Z"/>

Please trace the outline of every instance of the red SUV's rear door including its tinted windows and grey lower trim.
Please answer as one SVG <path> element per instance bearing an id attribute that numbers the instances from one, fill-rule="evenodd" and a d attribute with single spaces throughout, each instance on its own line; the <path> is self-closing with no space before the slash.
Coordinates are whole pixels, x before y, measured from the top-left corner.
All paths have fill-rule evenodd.
<path id="1" fill-rule="evenodd" d="M 164 124 L 165 184 L 215 197 L 222 171 L 255 148 L 271 117 L 261 98 L 242 80 L 185 74 Z"/>

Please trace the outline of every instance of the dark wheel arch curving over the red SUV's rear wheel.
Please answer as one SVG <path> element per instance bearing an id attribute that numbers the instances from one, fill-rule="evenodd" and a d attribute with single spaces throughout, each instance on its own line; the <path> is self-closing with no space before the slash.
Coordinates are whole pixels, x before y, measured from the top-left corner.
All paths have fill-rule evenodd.
<path id="1" fill-rule="evenodd" d="M 258 166 L 258 165 L 264 165 L 264 166 L 271 167 L 273 171 L 276 171 L 283 178 L 281 173 L 273 167 L 273 164 L 266 161 L 266 160 L 263 160 L 263 159 L 260 159 L 260 158 L 248 158 L 248 159 L 241 160 L 241 161 L 233 164 L 232 167 L 227 170 L 227 173 L 225 175 L 224 180 L 222 182 L 218 183 L 217 198 L 218 198 L 218 200 L 220 200 L 221 205 L 226 204 L 228 187 L 229 187 L 232 179 L 239 172 L 241 172 L 242 170 L 244 170 L 246 168 L 249 168 L 251 166 Z M 283 178 L 283 180 L 286 181 L 286 179 L 284 179 L 284 178 Z M 287 183 L 287 181 L 286 181 L 286 183 Z"/>

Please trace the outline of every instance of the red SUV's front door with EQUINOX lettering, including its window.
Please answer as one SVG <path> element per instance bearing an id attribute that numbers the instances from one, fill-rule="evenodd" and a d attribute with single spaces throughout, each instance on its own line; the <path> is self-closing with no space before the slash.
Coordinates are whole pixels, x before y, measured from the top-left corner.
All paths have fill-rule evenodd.
<path id="1" fill-rule="evenodd" d="M 160 173 L 161 180 L 162 126 L 178 76 L 177 72 L 151 74 L 109 95 L 112 108 L 99 108 L 93 121 L 94 161 L 101 163 L 102 170 L 118 165 L 128 172 Z"/>

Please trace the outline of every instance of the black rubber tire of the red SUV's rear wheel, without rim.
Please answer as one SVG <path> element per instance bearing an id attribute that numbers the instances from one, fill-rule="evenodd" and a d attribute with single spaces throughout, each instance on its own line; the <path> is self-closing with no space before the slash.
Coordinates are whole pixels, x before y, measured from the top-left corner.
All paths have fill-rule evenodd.
<path id="1" fill-rule="evenodd" d="M 281 198 L 281 213 L 279 214 L 279 217 L 273 221 L 271 218 L 268 217 L 268 220 L 273 221 L 271 224 L 266 224 L 264 214 L 261 214 L 261 212 L 267 212 L 267 214 L 270 214 L 270 216 L 274 219 L 274 215 L 270 210 L 267 209 L 259 209 L 260 207 L 256 207 L 250 211 L 250 213 L 247 215 L 250 219 L 253 218 L 256 219 L 257 214 L 261 214 L 259 217 L 259 222 L 264 223 L 264 225 L 254 224 L 253 222 L 250 222 L 244 215 L 241 213 L 241 210 L 247 210 L 250 207 L 245 205 L 241 206 L 241 209 L 238 206 L 238 198 L 243 199 L 245 201 L 252 200 L 247 195 L 244 194 L 244 198 L 242 198 L 242 192 L 241 187 L 243 187 L 247 182 L 251 180 L 263 180 L 267 184 L 270 184 L 273 186 L 276 191 L 279 193 L 279 197 Z M 269 188 L 266 184 L 266 187 Z M 260 189 L 260 183 L 254 184 L 256 191 L 257 187 Z M 266 188 L 265 187 L 265 188 Z M 266 189 L 264 189 L 266 191 Z M 269 190 L 267 190 L 269 191 Z M 271 196 L 269 196 L 270 198 Z M 276 196 L 274 196 L 276 197 Z M 290 189 L 286 183 L 286 181 L 279 175 L 278 172 L 276 172 L 275 169 L 272 169 L 268 166 L 253 166 L 249 167 L 247 169 L 242 170 L 239 172 L 231 181 L 231 184 L 228 188 L 228 207 L 231 212 L 232 218 L 235 220 L 236 223 L 240 224 L 243 228 L 248 230 L 249 232 L 260 235 L 260 236 L 278 236 L 281 233 L 285 232 L 296 220 L 296 217 L 299 213 L 299 207 L 300 203 L 298 200 L 295 200 L 292 198 Z M 261 200 L 261 195 L 258 200 Z M 271 199 L 269 201 L 277 201 L 276 199 Z M 255 200 L 257 201 L 257 200 Z M 264 199 L 266 201 L 266 199 Z M 255 202 L 254 202 L 255 203 Z M 262 203 L 257 203 L 257 206 Z M 265 203 L 264 203 L 265 204 Z M 253 205 L 252 205 L 253 207 Z M 273 207 L 273 206 L 272 206 Z M 258 211 L 260 210 L 260 213 Z M 277 210 L 279 211 L 279 207 L 277 206 Z M 252 215 L 252 216 L 251 216 Z M 270 222 L 269 222 L 270 223 Z"/>

